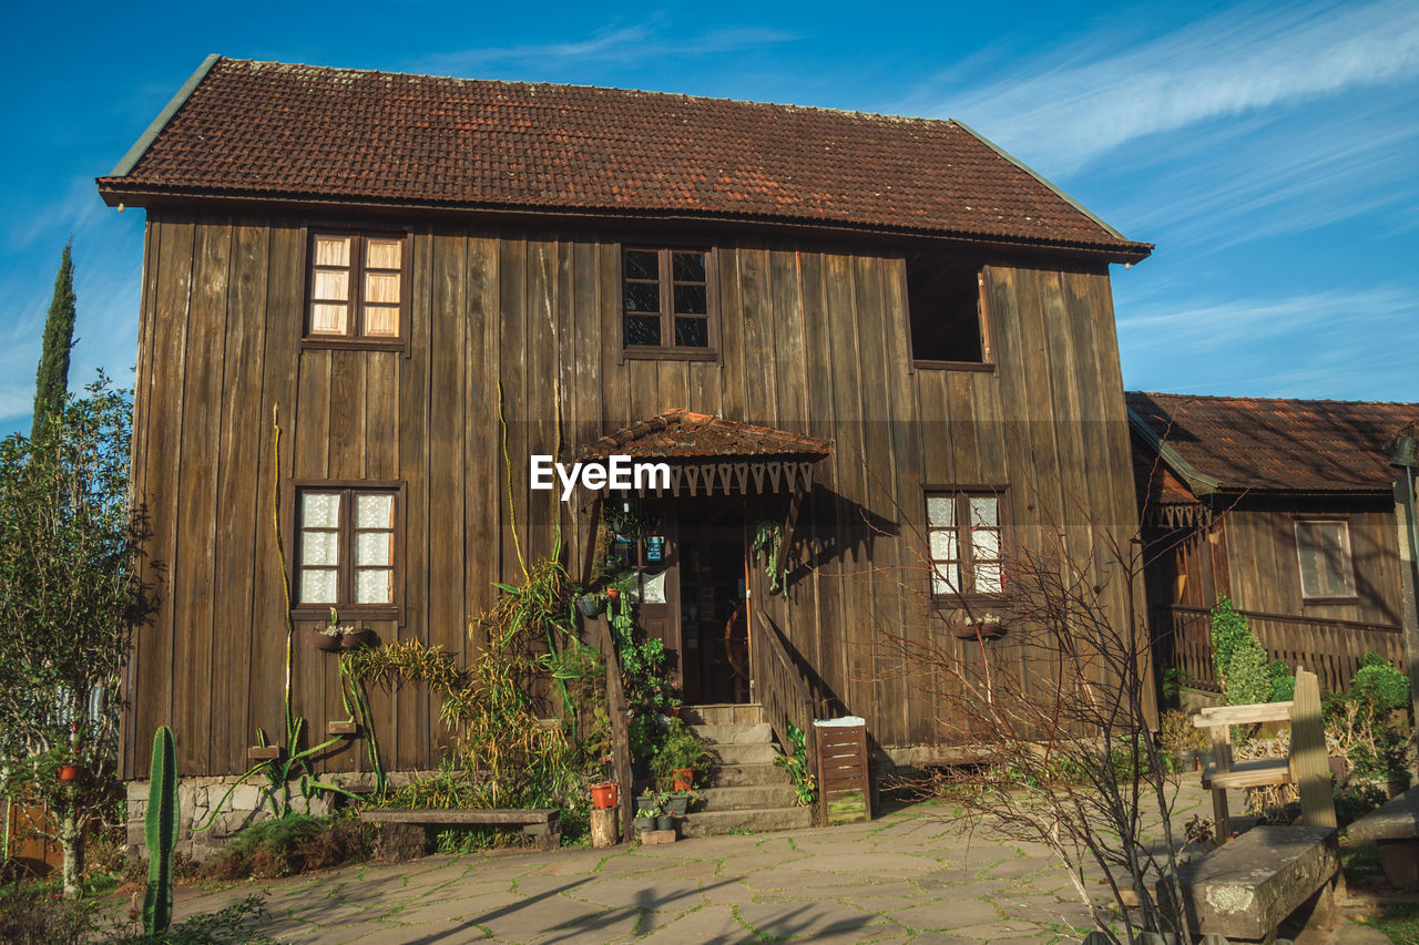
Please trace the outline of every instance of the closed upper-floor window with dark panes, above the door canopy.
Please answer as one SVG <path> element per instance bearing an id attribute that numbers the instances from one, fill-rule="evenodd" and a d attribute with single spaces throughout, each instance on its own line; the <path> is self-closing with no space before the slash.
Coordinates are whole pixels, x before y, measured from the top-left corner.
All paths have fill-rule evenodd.
<path id="1" fill-rule="evenodd" d="M 627 247 L 622 261 L 626 355 L 714 359 L 714 254 Z"/>

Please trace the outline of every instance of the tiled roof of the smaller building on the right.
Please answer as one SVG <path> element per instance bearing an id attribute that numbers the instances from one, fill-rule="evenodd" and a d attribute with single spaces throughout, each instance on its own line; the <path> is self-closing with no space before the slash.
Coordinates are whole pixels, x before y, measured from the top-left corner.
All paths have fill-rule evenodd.
<path id="1" fill-rule="evenodd" d="M 1395 478 L 1386 440 L 1419 423 L 1419 404 L 1125 394 L 1142 417 L 1220 491 L 1379 492 Z M 1135 440 L 1137 443 L 1137 440 Z"/>

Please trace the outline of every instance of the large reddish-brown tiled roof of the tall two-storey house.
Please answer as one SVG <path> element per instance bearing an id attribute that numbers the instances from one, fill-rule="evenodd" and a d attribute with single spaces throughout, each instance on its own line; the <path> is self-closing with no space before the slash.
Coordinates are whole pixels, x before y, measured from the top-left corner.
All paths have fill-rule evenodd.
<path id="1" fill-rule="evenodd" d="M 698 217 L 985 238 L 1141 260 L 955 121 L 209 57 L 109 203 L 248 197 Z"/>

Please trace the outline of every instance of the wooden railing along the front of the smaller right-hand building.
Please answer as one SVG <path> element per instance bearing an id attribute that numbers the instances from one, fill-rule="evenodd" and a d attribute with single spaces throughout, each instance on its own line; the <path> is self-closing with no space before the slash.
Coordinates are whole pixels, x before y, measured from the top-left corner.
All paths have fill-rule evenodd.
<path id="1" fill-rule="evenodd" d="M 1325 691 L 1349 687 L 1366 653 L 1378 653 L 1403 665 L 1405 639 L 1401 627 L 1354 620 L 1310 620 L 1277 613 L 1239 610 L 1252 624 L 1256 639 L 1273 660 L 1305 667 L 1317 674 Z M 1212 629 L 1203 607 L 1154 607 L 1154 633 L 1171 637 L 1172 665 L 1183 682 L 1220 690 L 1212 668 Z"/>

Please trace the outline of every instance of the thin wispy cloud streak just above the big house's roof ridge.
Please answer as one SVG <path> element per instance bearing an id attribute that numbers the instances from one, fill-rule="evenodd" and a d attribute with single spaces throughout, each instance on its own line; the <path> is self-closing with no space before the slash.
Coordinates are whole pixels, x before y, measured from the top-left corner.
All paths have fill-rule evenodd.
<path id="1" fill-rule="evenodd" d="M 441 74 L 471 72 L 492 64 L 535 62 L 546 68 L 572 62 L 631 62 L 664 55 L 715 55 L 739 50 L 788 43 L 793 33 L 761 27 L 725 27 L 694 37 L 671 38 L 664 34 L 658 17 L 650 23 L 606 27 L 585 40 L 563 43 L 529 43 L 502 47 L 478 47 L 453 52 L 438 52 L 419 60 L 416 68 Z"/>

